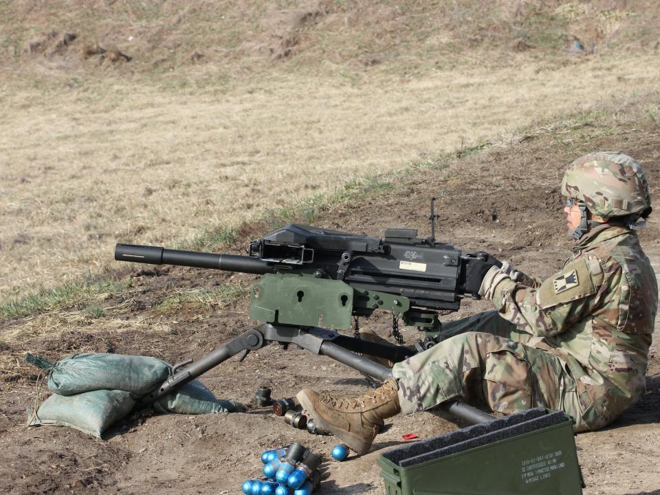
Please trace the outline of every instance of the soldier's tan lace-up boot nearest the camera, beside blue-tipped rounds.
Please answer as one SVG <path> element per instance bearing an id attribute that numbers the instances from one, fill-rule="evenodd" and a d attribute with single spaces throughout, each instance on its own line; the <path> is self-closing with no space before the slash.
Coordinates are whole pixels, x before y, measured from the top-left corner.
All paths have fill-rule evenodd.
<path id="1" fill-rule="evenodd" d="M 366 454 L 384 419 L 401 412 L 396 380 L 352 399 L 320 395 L 309 388 L 296 395 L 309 417 L 342 439 L 351 450 Z"/>

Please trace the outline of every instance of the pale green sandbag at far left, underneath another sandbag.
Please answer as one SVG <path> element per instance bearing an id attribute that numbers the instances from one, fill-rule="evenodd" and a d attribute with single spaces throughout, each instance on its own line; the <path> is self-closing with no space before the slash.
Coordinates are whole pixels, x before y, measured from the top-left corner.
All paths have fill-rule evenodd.
<path id="1" fill-rule="evenodd" d="M 70 426 L 100 439 L 102 433 L 131 412 L 135 401 L 125 391 L 98 390 L 78 395 L 53 394 L 38 411 L 28 411 L 28 426 Z"/>

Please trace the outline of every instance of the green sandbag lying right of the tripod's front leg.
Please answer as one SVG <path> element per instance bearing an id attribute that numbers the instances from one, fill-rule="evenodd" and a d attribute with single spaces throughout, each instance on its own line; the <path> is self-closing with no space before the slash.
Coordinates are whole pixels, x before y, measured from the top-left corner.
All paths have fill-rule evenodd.
<path id="1" fill-rule="evenodd" d="M 242 404 L 229 400 L 216 399 L 213 393 L 199 380 L 192 380 L 174 393 L 170 393 L 153 403 L 156 412 L 176 414 L 209 414 L 212 412 L 239 412 L 245 410 Z"/>

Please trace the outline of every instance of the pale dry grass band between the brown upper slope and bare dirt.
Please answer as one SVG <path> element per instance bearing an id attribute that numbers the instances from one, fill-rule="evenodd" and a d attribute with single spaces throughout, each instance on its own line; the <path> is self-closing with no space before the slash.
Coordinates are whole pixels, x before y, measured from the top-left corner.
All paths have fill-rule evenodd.
<path id="1" fill-rule="evenodd" d="M 91 80 L 49 96 L 5 82 L 0 296 L 97 272 L 117 241 L 171 244 L 351 175 L 646 91 L 655 62 L 538 72 L 527 61 L 356 85 L 278 76 L 223 95 Z"/>

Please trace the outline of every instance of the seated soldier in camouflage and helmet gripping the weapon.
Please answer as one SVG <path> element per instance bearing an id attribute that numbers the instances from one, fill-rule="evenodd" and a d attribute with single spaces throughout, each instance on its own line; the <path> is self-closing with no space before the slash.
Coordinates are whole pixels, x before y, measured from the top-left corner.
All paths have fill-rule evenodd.
<path id="1" fill-rule="evenodd" d="M 560 272 L 540 281 L 484 253 L 465 285 L 497 311 L 443 323 L 448 338 L 395 364 L 393 378 L 362 397 L 301 391 L 314 421 L 364 454 L 384 419 L 450 400 L 505 414 L 563 410 L 576 432 L 634 404 L 658 304 L 636 233 L 651 212 L 646 176 L 627 155 L 591 153 L 566 170 L 561 192 L 575 247 Z"/>

